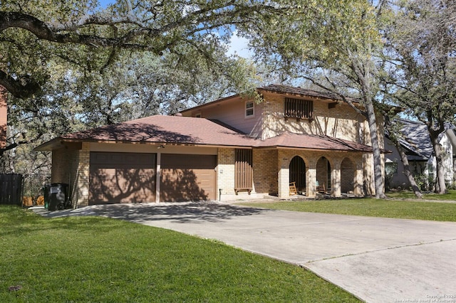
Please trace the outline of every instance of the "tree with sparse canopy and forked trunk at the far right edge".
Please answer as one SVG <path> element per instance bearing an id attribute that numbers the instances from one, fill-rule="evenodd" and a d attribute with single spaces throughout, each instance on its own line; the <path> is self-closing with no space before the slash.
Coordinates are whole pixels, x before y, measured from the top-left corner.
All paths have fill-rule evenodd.
<path id="1" fill-rule="evenodd" d="M 388 31 L 391 94 L 427 126 L 437 160 L 437 193 L 446 192 L 440 134 L 456 113 L 456 2 L 398 1 Z"/>

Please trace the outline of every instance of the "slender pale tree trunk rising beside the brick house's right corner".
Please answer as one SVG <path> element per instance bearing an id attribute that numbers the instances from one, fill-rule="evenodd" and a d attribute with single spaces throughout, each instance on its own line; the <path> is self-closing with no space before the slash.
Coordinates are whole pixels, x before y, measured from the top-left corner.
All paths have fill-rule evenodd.
<path id="1" fill-rule="evenodd" d="M 378 142 L 378 127 L 372 100 L 366 100 L 366 113 L 368 115 L 369 132 L 373 149 L 373 172 L 375 183 L 375 198 L 386 198 L 385 181 L 382 175 L 382 159 L 380 144 Z"/>

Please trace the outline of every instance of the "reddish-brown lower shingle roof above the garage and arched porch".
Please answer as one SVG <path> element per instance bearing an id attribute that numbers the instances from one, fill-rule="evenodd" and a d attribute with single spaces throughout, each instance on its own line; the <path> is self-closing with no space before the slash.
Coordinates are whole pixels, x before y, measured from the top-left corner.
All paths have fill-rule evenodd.
<path id="1" fill-rule="evenodd" d="M 221 147 L 285 147 L 337 151 L 372 151 L 371 147 L 364 144 L 311 134 L 284 133 L 271 139 L 259 140 L 209 119 L 160 115 L 65 134 L 50 142 L 41 144 L 36 150 L 50 150 L 53 144 L 58 142 L 133 142 Z"/>

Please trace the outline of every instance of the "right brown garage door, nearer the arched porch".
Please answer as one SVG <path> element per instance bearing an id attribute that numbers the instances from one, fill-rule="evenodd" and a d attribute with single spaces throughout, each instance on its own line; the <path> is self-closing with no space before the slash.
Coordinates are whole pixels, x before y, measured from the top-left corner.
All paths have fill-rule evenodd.
<path id="1" fill-rule="evenodd" d="M 215 199 L 217 156 L 162 154 L 160 201 Z"/>

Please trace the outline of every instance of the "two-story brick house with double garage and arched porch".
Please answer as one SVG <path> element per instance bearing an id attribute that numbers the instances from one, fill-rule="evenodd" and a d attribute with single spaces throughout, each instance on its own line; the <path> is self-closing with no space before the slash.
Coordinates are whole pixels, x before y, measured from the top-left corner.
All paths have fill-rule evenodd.
<path id="1" fill-rule="evenodd" d="M 309 197 L 373 193 L 362 115 L 321 92 L 257 91 L 258 104 L 234 95 L 175 116 L 66 134 L 36 150 L 52 151 L 52 182 L 70 185 L 75 206 L 289 198 L 291 183 Z"/>

